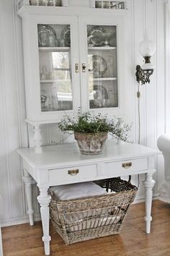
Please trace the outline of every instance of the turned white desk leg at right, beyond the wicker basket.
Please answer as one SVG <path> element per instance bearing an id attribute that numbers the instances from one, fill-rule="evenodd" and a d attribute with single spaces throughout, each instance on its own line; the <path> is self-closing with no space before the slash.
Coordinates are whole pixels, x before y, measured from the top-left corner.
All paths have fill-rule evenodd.
<path id="1" fill-rule="evenodd" d="M 146 179 L 143 181 L 144 186 L 146 187 L 146 233 L 149 234 L 151 231 L 151 207 L 152 207 L 152 195 L 153 195 L 153 187 L 155 181 L 152 178 L 152 174 L 146 174 Z"/>

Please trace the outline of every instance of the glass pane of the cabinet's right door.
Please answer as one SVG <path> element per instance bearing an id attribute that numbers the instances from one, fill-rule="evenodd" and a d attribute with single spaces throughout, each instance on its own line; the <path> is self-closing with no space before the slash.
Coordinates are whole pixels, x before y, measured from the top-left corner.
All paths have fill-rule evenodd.
<path id="1" fill-rule="evenodd" d="M 89 107 L 118 106 L 116 26 L 87 25 Z"/>

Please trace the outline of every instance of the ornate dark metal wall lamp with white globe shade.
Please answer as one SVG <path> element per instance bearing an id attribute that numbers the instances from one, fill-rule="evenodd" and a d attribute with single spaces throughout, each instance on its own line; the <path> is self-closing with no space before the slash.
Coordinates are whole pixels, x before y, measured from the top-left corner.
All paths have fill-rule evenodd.
<path id="1" fill-rule="evenodd" d="M 155 43 L 151 40 L 148 40 L 148 36 L 144 36 L 144 40 L 139 44 L 139 53 L 143 56 L 145 63 L 142 67 L 140 65 L 136 66 L 136 80 L 138 83 L 141 82 L 142 85 L 145 85 L 147 82 L 150 82 L 150 76 L 153 74 L 153 64 L 151 64 L 151 56 L 153 56 L 156 50 Z"/>

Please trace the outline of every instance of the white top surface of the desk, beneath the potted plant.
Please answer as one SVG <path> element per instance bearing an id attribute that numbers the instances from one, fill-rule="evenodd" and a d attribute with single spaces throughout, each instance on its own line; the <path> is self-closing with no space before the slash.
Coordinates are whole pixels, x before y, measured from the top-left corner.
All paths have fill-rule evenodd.
<path id="1" fill-rule="evenodd" d="M 100 155 L 81 155 L 76 143 L 44 146 L 42 153 L 35 153 L 34 148 L 21 148 L 17 152 L 33 168 L 58 168 L 100 161 L 122 161 L 161 153 L 158 150 L 133 143 L 117 145 L 112 139 L 107 140 L 103 153 Z"/>

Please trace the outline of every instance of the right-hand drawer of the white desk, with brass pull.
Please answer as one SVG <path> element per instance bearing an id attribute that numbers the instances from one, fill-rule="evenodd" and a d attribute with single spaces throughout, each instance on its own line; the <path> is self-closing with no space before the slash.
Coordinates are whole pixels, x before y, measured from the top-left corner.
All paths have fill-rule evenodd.
<path id="1" fill-rule="evenodd" d="M 106 174 L 118 174 L 120 176 L 126 173 L 148 169 L 148 158 L 130 159 L 128 161 L 117 161 L 105 163 Z"/>

